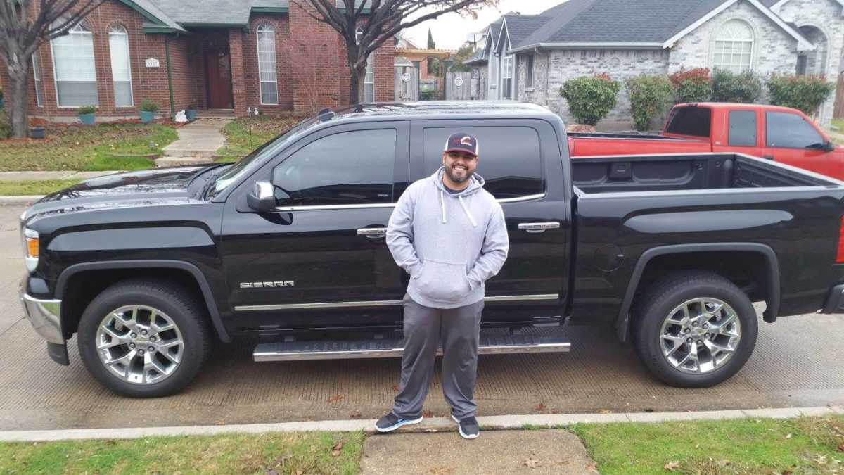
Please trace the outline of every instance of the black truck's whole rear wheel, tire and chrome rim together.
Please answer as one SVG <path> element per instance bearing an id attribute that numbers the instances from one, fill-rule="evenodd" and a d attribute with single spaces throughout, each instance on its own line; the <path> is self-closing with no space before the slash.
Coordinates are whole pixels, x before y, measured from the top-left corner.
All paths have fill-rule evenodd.
<path id="1" fill-rule="evenodd" d="M 633 315 L 633 345 L 647 369 L 669 385 L 717 385 L 747 363 L 758 325 L 753 303 L 733 282 L 709 272 L 657 281 Z"/>

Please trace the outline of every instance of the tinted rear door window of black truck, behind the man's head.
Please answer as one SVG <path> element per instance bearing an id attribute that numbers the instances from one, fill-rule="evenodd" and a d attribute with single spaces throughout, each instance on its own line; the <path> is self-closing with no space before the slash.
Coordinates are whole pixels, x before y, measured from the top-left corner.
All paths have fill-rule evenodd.
<path id="1" fill-rule="evenodd" d="M 543 194 L 542 150 L 539 134 L 531 127 L 425 128 L 425 175 L 442 167 L 442 150 L 454 132 L 468 132 L 478 138 L 475 172 L 484 177 L 484 188 L 495 198 Z"/>

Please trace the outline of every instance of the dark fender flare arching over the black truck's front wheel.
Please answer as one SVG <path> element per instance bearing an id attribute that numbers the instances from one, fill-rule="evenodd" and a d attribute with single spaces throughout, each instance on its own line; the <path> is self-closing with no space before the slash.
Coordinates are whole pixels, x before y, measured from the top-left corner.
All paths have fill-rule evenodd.
<path id="1" fill-rule="evenodd" d="M 208 280 L 203 275 L 202 270 L 199 270 L 196 265 L 192 265 L 181 260 L 106 260 L 100 262 L 74 264 L 69 266 L 67 269 L 62 270 L 62 274 L 58 276 L 58 280 L 56 281 L 56 298 L 62 298 L 64 289 L 67 288 L 68 279 L 79 272 L 101 269 L 116 270 L 138 268 L 178 269 L 190 272 L 193 278 L 197 280 L 197 284 L 203 292 L 203 299 L 205 300 L 205 305 L 208 308 L 208 314 L 211 315 L 211 321 L 214 324 L 214 330 L 217 331 L 217 336 L 219 336 L 219 339 L 225 343 L 229 343 L 231 341 L 231 336 L 229 335 L 229 332 L 225 330 L 225 326 L 223 325 L 223 319 L 219 316 L 217 303 L 214 302 L 214 294 L 211 292 L 211 287 L 208 286 Z"/>

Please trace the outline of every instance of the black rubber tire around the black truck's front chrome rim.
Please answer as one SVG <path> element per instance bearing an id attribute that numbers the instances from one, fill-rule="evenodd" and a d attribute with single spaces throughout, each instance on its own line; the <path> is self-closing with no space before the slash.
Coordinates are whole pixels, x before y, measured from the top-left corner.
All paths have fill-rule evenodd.
<path id="1" fill-rule="evenodd" d="M 171 374 L 160 381 L 136 384 L 123 380 L 107 369 L 106 364 L 100 360 L 96 349 L 100 324 L 111 312 L 127 305 L 142 305 L 160 310 L 181 332 L 183 344 L 179 363 Z M 79 320 L 77 341 L 79 356 L 89 373 L 101 385 L 127 397 L 161 397 L 176 394 L 196 377 L 208 360 L 212 346 L 208 320 L 204 317 L 201 303 L 192 292 L 176 283 L 154 279 L 122 281 L 101 292 L 89 303 L 88 308 L 85 308 Z"/>

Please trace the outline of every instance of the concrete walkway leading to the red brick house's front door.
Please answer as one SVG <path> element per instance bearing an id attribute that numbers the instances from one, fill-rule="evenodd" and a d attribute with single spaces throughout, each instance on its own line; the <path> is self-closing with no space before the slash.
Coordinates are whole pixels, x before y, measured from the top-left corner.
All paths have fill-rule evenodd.
<path id="1" fill-rule="evenodd" d="M 163 151 L 164 156 L 155 160 L 159 167 L 170 165 L 196 165 L 213 161 L 217 149 L 225 143 L 222 130 L 231 119 L 201 118 L 177 128 L 179 138 Z"/>

